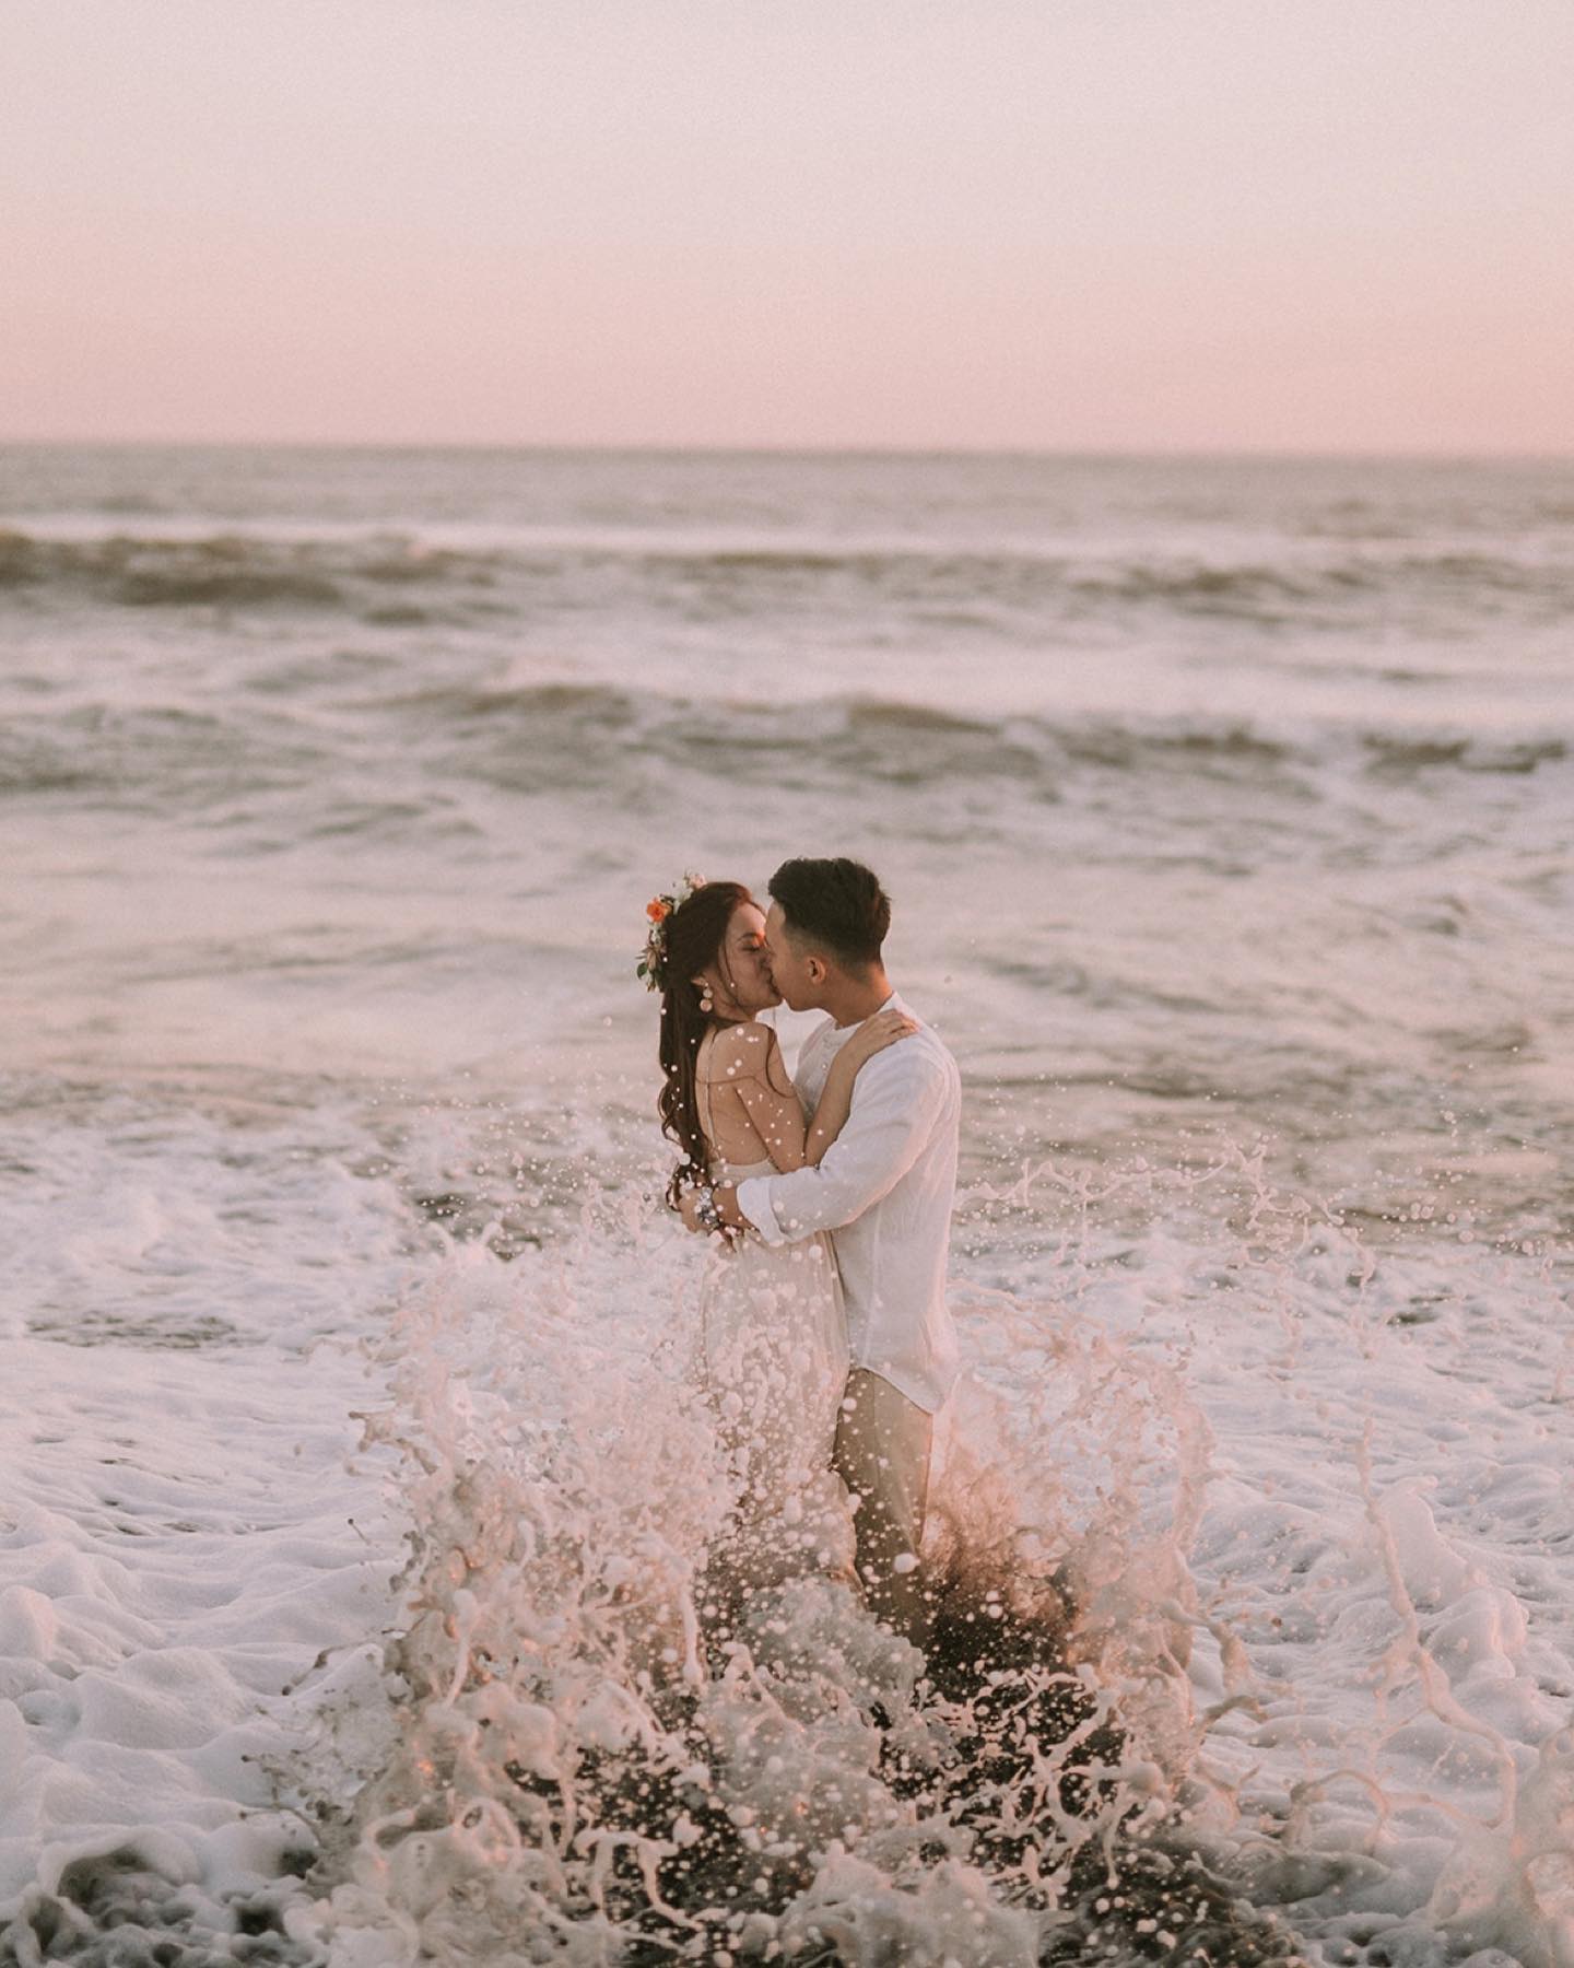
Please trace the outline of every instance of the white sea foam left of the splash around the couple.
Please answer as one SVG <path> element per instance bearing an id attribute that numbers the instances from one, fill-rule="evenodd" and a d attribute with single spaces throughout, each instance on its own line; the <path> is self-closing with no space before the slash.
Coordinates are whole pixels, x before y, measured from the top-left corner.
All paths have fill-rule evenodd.
<path id="1" fill-rule="evenodd" d="M 26 1948 L 45 1903 L 91 1931 L 85 1905 L 124 1889 L 218 1946 L 224 1903 L 313 1846 L 275 1807 L 291 1689 L 392 1604 L 350 1336 L 407 1234 L 305 1116 L 118 1096 L 91 1120 L 12 1132 L 0 1931 Z"/>

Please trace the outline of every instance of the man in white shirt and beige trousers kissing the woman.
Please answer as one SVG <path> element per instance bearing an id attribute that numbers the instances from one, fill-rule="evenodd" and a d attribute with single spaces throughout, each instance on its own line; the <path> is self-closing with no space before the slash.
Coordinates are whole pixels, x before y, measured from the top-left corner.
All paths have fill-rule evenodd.
<path id="1" fill-rule="evenodd" d="M 885 1006 L 913 1014 L 885 976 L 891 903 L 868 868 L 789 860 L 769 886 L 763 956 L 771 982 L 795 1012 L 830 1014 L 805 1041 L 793 1076 L 813 1114 L 852 1029 Z M 927 1626 L 919 1545 L 935 1413 L 956 1380 L 944 1287 L 960 1106 L 956 1061 L 919 1023 L 860 1071 L 852 1112 L 818 1167 L 756 1175 L 714 1193 L 726 1226 L 750 1226 L 767 1244 L 834 1232 L 852 1372 L 832 1468 L 856 1500 L 858 1574 L 870 1608 L 913 1639 Z"/>

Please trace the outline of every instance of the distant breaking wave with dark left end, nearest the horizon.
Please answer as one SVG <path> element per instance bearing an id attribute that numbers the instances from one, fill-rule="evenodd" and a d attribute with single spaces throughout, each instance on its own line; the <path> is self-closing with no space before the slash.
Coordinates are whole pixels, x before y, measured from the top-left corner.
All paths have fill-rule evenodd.
<path id="1" fill-rule="evenodd" d="M 348 610 L 409 620 L 417 590 L 431 606 L 527 614 L 541 598 L 637 592 L 657 612 L 695 618 L 783 608 L 909 610 L 915 624 L 1019 632 L 1019 616 L 1084 622 L 1112 616 L 1240 620 L 1259 628 L 1338 628 L 1373 606 L 1409 620 L 1574 614 L 1574 569 L 1548 553 L 1458 551 L 1405 543 L 1301 541 L 1277 561 L 1192 555 L 1102 557 L 1037 545 L 972 551 L 956 543 L 750 545 L 655 541 L 649 533 L 488 531 L 114 531 L 57 537 L 0 531 L 0 590 L 124 608 Z M 938 616 L 937 616 L 938 612 Z"/>

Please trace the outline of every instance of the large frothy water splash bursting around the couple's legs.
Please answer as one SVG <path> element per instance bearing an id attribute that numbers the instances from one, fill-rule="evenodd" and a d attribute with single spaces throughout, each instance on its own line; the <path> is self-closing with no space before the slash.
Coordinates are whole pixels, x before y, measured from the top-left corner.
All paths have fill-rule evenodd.
<path id="1" fill-rule="evenodd" d="M 1179 1380 L 974 1293 L 927 1653 L 824 1572 L 720 1637 L 696 1588 L 734 1498 L 691 1267 L 626 1208 L 514 1265 L 456 1252 L 401 1311 L 368 1417 L 411 1521 L 386 1757 L 291 1933 L 336 1964 L 1033 1962 L 1198 1923 L 1283 1952 L 1169 1850 L 1208 1454 Z M 323 1763 L 348 1718 L 323 1702 Z"/>

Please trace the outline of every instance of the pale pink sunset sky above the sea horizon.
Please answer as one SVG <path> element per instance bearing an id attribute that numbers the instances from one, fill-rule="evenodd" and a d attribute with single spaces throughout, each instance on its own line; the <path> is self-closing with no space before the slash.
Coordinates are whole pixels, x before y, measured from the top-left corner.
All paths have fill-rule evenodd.
<path id="1" fill-rule="evenodd" d="M 1574 453 L 1570 0 L 0 28 L 0 439 Z"/>

